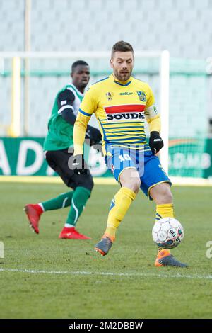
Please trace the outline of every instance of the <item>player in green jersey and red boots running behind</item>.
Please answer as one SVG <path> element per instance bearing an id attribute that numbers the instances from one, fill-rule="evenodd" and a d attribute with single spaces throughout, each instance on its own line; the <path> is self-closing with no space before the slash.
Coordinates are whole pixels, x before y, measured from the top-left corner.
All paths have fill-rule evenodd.
<path id="1" fill-rule="evenodd" d="M 88 64 L 82 60 L 74 62 L 71 67 L 71 78 L 72 83 L 64 86 L 55 98 L 44 142 L 44 151 L 49 166 L 72 190 L 42 203 L 25 205 L 24 209 L 30 226 L 38 234 L 42 213 L 47 210 L 70 207 L 59 238 L 90 239 L 76 230 L 76 222 L 90 197 L 93 178 L 89 170 L 86 174 L 77 175 L 69 168 L 69 159 L 73 156 L 73 149 L 70 149 L 73 147 L 73 125 L 83 100 L 84 90 L 90 79 Z M 101 140 L 100 131 L 90 125 L 87 127 L 86 137 L 89 138 L 90 145 L 95 145 Z"/>

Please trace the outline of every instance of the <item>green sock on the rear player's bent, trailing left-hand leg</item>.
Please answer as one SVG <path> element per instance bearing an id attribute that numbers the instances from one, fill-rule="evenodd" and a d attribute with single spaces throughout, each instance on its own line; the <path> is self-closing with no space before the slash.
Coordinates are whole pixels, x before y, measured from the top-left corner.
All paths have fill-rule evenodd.
<path id="1" fill-rule="evenodd" d="M 41 203 L 44 210 L 54 210 L 69 207 L 71 205 L 71 198 L 73 196 L 73 191 L 67 193 L 61 193 L 57 198 L 45 201 Z"/>

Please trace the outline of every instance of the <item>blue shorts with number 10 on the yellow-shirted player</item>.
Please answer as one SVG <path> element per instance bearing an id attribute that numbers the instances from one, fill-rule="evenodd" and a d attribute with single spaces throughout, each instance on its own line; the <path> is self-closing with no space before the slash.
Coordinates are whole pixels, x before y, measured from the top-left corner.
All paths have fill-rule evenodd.
<path id="1" fill-rule="evenodd" d="M 159 183 L 169 183 L 170 179 L 160 164 L 160 160 L 152 152 L 141 152 L 136 149 L 106 146 L 105 163 L 112 171 L 114 178 L 119 182 L 119 176 L 124 169 L 134 168 L 139 172 L 141 190 L 153 200 L 149 194 L 151 187 Z"/>

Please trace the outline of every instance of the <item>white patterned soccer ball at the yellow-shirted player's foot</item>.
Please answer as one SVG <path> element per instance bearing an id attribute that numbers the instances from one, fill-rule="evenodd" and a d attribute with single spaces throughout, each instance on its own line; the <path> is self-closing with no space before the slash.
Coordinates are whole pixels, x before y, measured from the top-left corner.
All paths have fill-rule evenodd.
<path id="1" fill-rule="evenodd" d="M 175 218 L 161 218 L 153 226 L 153 241 L 158 247 L 172 249 L 182 242 L 184 230 Z"/>

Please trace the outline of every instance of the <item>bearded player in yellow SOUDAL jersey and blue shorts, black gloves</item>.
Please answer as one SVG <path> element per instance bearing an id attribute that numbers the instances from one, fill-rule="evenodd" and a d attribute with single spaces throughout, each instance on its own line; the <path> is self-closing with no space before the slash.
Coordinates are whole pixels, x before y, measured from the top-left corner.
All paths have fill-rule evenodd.
<path id="1" fill-rule="evenodd" d="M 160 116 L 150 86 L 131 77 L 134 67 L 133 47 L 119 41 L 112 47 L 110 64 L 113 73 L 93 84 L 86 92 L 73 129 L 73 169 L 86 173 L 83 160 L 83 142 L 90 116 L 95 116 L 102 134 L 102 151 L 108 169 L 121 188 L 114 195 L 107 220 L 107 228 L 95 250 L 105 256 L 116 237 L 117 227 L 123 220 L 139 188 L 155 201 L 156 216 L 174 217 L 170 179 L 155 154 L 163 147 L 160 137 Z M 150 130 L 146 142 L 144 120 Z M 158 248 L 155 266 L 186 267 L 167 249 Z"/>

